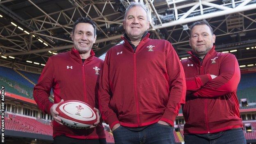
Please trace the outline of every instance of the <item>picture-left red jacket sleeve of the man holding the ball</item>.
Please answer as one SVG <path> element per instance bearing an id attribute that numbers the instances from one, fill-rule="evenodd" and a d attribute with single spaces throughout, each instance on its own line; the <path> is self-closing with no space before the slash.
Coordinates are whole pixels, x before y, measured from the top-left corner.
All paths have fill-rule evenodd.
<path id="1" fill-rule="evenodd" d="M 39 109 L 45 113 L 50 113 L 50 107 L 53 105 L 48 98 L 53 85 L 53 73 L 53 60 L 49 58 L 33 91 L 34 100 Z"/>

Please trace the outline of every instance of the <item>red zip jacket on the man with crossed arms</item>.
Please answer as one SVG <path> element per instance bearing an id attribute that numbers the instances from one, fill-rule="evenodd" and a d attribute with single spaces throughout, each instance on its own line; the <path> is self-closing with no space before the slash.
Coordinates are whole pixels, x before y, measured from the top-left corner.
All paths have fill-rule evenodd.
<path id="1" fill-rule="evenodd" d="M 218 53 L 213 46 L 201 63 L 188 53 L 192 57 L 182 60 L 187 83 L 184 133 L 217 133 L 242 127 L 236 96 L 240 69 L 235 56 Z M 212 79 L 210 74 L 218 76 Z"/>

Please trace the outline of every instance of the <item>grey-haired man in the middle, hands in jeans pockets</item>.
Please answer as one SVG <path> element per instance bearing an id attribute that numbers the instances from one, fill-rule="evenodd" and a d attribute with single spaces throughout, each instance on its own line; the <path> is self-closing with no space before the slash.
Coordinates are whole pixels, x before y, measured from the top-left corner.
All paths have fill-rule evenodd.
<path id="1" fill-rule="evenodd" d="M 175 144 L 173 128 L 185 101 L 185 75 L 169 41 L 149 39 L 144 5 L 125 13 L 123 44 L 105 57 L 100 110 L 116 144 Z"/>

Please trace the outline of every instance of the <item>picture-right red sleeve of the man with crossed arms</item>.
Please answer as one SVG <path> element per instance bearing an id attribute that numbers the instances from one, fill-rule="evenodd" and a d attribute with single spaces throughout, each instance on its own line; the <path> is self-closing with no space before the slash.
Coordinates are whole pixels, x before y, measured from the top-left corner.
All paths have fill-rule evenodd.
<path id="1" fill-rule="evenodd" d="M 216 98 L 236 91 L 240 81 L 238 61 L 232 54 L 223 56 L 219 67 L 219 75 L 207 82 L 193 95 L 201 98 Z"/>

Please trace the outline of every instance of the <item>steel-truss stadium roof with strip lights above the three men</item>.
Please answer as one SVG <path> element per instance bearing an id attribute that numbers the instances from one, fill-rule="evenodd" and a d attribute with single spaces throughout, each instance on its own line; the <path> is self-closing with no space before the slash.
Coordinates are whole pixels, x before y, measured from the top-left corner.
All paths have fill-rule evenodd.
<path id="1" fill-rule="evenodd" d="M 135 0 L 146 5 L 152 39 L 170 41 L 186 58 L 189 26 L 206 19 L 217 36 L 216 49 L 256 67 L 256 0 Z M 73 46 L 74 21 L 97 23 L 97 56 L 121 41 L 123 16 L 132 0 L 0 0 L 0 65 L 38 69 L 48 57 Z M 28 61 L 28 62 L 27 62 Z M 253 64 L 251 66 L 250 64 Z M 250 66 L 247 66 L 250 65 Z"/>

